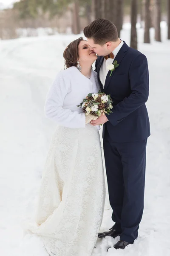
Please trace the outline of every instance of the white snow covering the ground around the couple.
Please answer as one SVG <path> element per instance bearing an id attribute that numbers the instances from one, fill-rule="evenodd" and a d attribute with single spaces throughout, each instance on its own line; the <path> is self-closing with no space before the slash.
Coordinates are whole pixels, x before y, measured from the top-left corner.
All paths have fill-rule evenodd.
<path id="1" fill-rule="evenodd" d="M 99 239 L 93 256 L 170 255 L 170 41 L 143 44 L 149 62 L 147 108 L 152 135 L 147 145 L 145 209 L 139 238 L 125 250 L 107 248 L 118 239 Z M 47 256 L 39 239 L 23 239 L 22 221 L 34 211 L 41 173 L 55 124 L 44 116 L 48 87 L 63 68 L 62 52 L 78 36 L 55 35 L 0 41 L 0 255 Z M 130 27 L 121 38 L 130 44 Z M 105 209 L 108 209 L 108 200 Z M 101 230 L 112 226 L 105 210 Z M 21 245 L 20 245 L 21 244 Z"/>

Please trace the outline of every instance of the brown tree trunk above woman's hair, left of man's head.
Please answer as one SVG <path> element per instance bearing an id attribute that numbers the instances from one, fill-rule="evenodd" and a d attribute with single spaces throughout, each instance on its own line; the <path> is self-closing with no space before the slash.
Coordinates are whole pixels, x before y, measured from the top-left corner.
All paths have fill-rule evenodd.
<path id="1" fill-rule="evenodd" d="M 75 35 L 80 34 L 79 0 L 74 0 L 72 17 L 73 17 L 72 32 Z"/>

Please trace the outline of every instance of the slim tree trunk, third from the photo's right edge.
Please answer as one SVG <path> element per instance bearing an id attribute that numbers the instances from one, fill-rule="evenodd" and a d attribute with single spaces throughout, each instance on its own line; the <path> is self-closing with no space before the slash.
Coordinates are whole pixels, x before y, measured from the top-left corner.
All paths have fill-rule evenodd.
<path id="1" fill-rule="evenodd" d="M 144 43 L 150 44 L 150 0 L 145 0 Z"/>

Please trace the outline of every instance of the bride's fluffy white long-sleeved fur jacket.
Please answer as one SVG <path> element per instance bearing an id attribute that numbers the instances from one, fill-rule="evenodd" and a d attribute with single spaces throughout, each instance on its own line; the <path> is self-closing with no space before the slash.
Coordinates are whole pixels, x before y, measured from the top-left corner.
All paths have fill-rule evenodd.
<path id="1" fill-rule="evenodd" d="M 88 93 L 100 89 L 97 73 L 91 78 L 83 76 L 77 67 L 69 67 L 57 75 L 45 101 L 45 116 L 68 128 L 85 128 L 85 113 L 77 107 Z M 99 130 L 99 125 L 96 125 Z"/>

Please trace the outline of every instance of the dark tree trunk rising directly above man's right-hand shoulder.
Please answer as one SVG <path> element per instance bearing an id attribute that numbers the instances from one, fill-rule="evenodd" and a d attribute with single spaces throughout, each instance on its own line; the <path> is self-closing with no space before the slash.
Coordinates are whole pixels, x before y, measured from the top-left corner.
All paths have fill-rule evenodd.
<path id="1" fill-rule="evenodd" d="M 130 47 L 137 49 L 137 31 L 136 31 L 136 21 L 137 21 L 137 0 L 131 0 L 131 37 L 130 37 Z"/>

